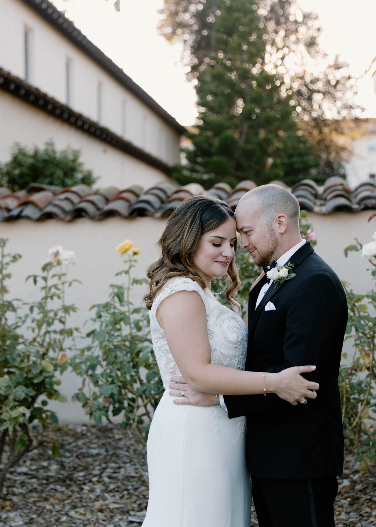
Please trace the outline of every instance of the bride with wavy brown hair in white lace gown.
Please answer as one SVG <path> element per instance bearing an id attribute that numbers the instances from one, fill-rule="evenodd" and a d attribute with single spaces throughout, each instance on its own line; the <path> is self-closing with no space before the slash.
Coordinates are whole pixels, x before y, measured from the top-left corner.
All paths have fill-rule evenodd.
<path id="1" fill-rule="evenodd" d="M 301 377 L 311 366 L 280 373 L 245 372 L 248 330 L 211 293 L 211 280 L 240 280 L 234 255 L 236 223 L 219 199 L 185 200 L 159 240 L 162 256 L 147 276 L 153 349 L 166 388 L 147 439 L 150 497 L 143 527 L 249 527 L 250 477 L 245 466 L 245 417 L 229 419 L 216 394 L 275 393 L 296 404 L 319 385 Z M 171 376 L 213 394 L 211 407 L 179 405 Z M 173 394 L 175 395 L 175 394 Z M 184 393 L 182 394 L 184 396 Z"/>

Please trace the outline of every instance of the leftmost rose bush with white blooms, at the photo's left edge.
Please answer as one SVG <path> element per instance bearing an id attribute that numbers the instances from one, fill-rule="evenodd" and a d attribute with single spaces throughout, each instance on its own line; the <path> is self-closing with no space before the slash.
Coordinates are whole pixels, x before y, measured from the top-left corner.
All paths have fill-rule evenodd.
<path id="1" fill-rule="evenodd" d="M 58 390 L 58 375 L 68 368 L 67 352 L 79 331 L 67 327 L 67 318 L 76 308 L 65 303 L 66 288 L 75 281 L 68 280 L 66 272 L 74 253 L 61 247 L 50 250 L 42 274 L 27 277 L 42 285 L 42 297 L 27 303 L 8 298 L 9 267 L 21 255 L 7 253 L 6 242 L 0 238 L 0 492 L 9 469 L 45 441 L 39 431 L 37 444 L 33 444 L 31 426 L 36 422 L 44 428 L 58 424 L 56 414 L 48 409 L 48 399 L 66 402 Z M 55 442 L 52 454 L 58 454 Z"/>

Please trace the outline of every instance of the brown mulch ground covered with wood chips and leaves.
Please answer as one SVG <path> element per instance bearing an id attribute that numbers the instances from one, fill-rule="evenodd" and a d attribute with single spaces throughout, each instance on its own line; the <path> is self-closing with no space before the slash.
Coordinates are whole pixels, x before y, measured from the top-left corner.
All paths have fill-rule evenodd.
<path id="1" fill-rule="evenodd" d="M 54 436 L 56 460 L 39 448 L 9 472 L 0 527 L 140 526 L 149 491 L 145 448 L 137 437 L 96 425 L 60 428 Z M 376 525 L 376 479 L 359 474 L 351 453 L 339 484 L 336 527 Z M 251 524 L 258 525 L 255 514 Z"/>

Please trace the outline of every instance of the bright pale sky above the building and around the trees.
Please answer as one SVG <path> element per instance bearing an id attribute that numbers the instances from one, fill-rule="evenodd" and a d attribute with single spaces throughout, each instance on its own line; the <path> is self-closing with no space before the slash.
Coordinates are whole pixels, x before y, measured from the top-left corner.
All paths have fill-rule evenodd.
<path id="1" fill-rule="evenodd" d="M 196 116 L 195 92 L 185 81 L 181 46 L 169 45 L 156 32 L 163 0 L 54 0 L 94 44 L 183 125 Z M 315 11 L 323 34 L 321 46 L 330 56 L 340 54 L 359 77 L 376 56 L 375 0 L 298 0 L 304 11 Z M 376 65 L 375 65 L 376 69 Z M 371 70 L 371 73 L 374 70 Z M 376 95 L 371 73 L 358 81 L 358 102 L 364 117 L 376 117 Z"/>

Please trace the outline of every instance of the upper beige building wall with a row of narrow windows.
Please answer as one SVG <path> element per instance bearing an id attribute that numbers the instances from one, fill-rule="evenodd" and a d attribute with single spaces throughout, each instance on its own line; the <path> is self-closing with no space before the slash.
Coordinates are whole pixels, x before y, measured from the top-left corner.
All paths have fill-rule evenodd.
<path id="1" fill-rule="evenodd" d="M 167 164 L 179 162 L 179 133 L 42 16 L 22 0 L 1 0 L 0 14 L 1 67 L 25 79 L 27 30 L 29 83 Z M 67 61 L 70 64 L 69 101 Z"/>

